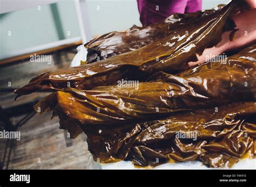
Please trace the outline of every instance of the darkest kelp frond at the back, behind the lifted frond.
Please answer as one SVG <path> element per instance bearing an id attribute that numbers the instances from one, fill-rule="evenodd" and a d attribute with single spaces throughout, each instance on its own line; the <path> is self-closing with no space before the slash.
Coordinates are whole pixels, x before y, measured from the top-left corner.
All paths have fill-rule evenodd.
<path id="1" fill-rule="evenodd" d="M 214 9 L 194 13 L 174 13 L 157 24 L 144 27 L 134 25 L 125 32 L 114 31 L 104 34 L 84 45 L 88 51 L 86 63 L 108 59 L 151 44 L 173 33 L 178 28 L 184 27 L 184 25 L 196 23 L 198 18 L 210 15 L 223 6 L 218 5 Z"/>

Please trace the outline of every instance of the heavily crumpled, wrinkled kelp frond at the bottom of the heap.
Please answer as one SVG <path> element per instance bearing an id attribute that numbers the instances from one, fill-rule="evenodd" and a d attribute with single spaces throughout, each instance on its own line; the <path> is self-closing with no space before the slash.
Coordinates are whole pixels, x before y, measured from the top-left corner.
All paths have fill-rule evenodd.
<path id="1" fill-rule="evenodd" d="M 95 161 L 129 160 L 138 166 L 156 166 L 199 160 L 210 167 L 231 167 L 249 151 L 248 156 L 254 155 L 249 132 L 255 135 L 255 113 L 255 102 L 234 103 L 136 125 L 80 126 L 88 135 Z M 219 159 L 214 160 L 217 155 Z"/>

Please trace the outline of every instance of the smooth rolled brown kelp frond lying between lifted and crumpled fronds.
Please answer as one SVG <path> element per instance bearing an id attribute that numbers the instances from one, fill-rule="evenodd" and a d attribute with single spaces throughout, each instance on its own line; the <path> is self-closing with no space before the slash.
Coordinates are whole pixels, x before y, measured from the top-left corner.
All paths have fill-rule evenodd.
<path id="1" fill-rule="evenodd" d="M 256 45 L 227 58 L 178 75 L 157 73 L 150 82 L 67 88 L 53 92 L 38 106 L 61 111 L 84 124 L 154 120 L 177 111 L 256 99 Z M 53 107 L 51 103 L 56 103 Z M 41 110 L 43 111 L 43 110 Z"/>

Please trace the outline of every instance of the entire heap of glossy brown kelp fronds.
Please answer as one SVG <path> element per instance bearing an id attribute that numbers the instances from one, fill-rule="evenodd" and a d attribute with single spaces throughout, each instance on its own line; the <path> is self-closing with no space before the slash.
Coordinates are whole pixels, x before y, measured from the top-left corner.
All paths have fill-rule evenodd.
<path id="1" fill-rule="evenodd" d="M 256 154 L 256 44 L 192 69 L 187 62 L 233 30 L 236 2 L 133 27 L 127 40 L 103 35 L 86 44 L 90 63 L 45 73 L 15 92 L 54 91 L 35 110 L 52 111 L 71 138 L 84 132 L 95 161 L 154 167 L 197 160 L 230 168 Z M 132 46 L 143 30 L 150 33 Z"/>

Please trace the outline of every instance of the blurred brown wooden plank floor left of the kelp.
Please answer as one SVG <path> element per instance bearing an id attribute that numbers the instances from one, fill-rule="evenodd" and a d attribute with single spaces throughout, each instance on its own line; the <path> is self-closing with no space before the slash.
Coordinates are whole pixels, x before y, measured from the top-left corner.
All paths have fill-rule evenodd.
<path id="1" fill-rule="evenodd" d="M 52 64 L 24 61 L 12 66 L 0 67 L 0 89 L 9 88 L 8 82 L 12 83 L 12 88 L 19 88 L 28 83 L 32 77 L 45 71 L 69 67 L 75 54 L 76 48 L 70 48 L 51 54 Z M 42 98 L 47 94 L 35 93 L 14 101 L 14 93 L 0 92 L 0 105 L 7 109 Z M 10 120 L 15 124 L 21 118 L 22 116 L 17 116 Z M 9 169 L 86 169 L 90 155 L 87 150 L 86 135 L 80 134 L 76 139 L 70 139 L 65 130 L 59 129 L 58 118 L 50 119 L 51 113 L 35 114 L 18 129 L 21 132 L 21 140 L 14 140 Z M 1 161 L 5 143 L 5 139 L 0 139 Z"/>

